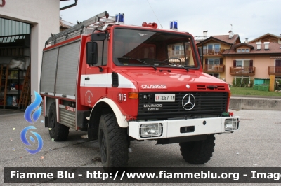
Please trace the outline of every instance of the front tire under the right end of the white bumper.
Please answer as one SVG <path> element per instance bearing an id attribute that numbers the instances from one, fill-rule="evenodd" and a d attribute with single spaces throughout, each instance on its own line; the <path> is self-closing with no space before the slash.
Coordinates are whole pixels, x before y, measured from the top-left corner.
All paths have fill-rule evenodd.
<path id="1" fill-rule="evenodd" d="M 185 162 L 190 164 L 205 164 L 213 155 L 214 141 L 214 134 L 210 134 L 207 136 L 207 139 L 202 141 L 180 143 L 181 155 L 185 159 Z"/>

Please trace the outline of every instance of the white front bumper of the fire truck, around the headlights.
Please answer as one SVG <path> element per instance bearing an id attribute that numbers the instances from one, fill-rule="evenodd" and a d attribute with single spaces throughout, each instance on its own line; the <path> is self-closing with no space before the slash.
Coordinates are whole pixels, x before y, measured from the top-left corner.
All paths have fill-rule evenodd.
<path id="1" fill-rule="evenodd" d="M 148 122 L 129 122 L 129 136 L 137 140 L 143 139 L 157 139 L 157 138 L 175 138 L 183 136 L 195 136 L 201 134 L 215 134 L 237 131 L 240 128 L 239 116 L 237 117 L 209 117 L 200 119 L 188 120 L 159 120 Z M 237 124 L 236 127 L 226 128 L 228 123 Z M 141 134 L 142 124 L 155 124 L 162 126 L 162 134 L 157 136 L 143 137 Z M 183 129 L 191 129 L 190 131 L 183 131 Z"/>

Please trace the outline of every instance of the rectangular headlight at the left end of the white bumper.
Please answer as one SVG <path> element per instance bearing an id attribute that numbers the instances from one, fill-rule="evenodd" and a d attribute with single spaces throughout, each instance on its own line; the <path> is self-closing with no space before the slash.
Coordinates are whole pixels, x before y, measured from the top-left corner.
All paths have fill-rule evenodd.
<path id="1" fill-rule="evenodd" d="M 141 138 L 152 138 L 162 136 L 163 125 L 161 123 L 141 124 L 140 136 Z"/>

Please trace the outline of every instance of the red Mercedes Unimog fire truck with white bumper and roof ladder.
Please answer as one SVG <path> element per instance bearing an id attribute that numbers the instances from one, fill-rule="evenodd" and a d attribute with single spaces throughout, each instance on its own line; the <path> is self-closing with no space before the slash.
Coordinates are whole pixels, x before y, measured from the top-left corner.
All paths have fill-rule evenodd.
<path id="1" fill-rule="evenodd" d="M 100 13 L 46 41 L 40 94 L 54 141 L 69 129 L 98 139 L 104 167 L 126 167 L 130 141 L 179 143 L 190 164 L 214 152 L 215 134 L 239 129 L 228 84 L 202 72 L 194 38 Z"/>

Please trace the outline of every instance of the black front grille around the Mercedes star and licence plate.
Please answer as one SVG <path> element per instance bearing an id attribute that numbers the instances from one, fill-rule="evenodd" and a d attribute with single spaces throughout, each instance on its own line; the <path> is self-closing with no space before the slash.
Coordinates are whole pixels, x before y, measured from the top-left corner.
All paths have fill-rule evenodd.
<path id="1" fill-rule="evenodd" d="M 176 100 L 175 102 L 155 102 L 155 94 L 175 94 Z M 185 107 L 190 110 L 185 110 L 182 106 L 182 100 L 186 94 L 192 94 L 195 97 L 195 106 L 192 109 Z M 192 99 L 192 96 L 190 97 Z M 221 115 L 226 112 L 227 103 L 228 92 L 141 92 L 139 93 L 138 119 Z M 147 104 L 152 106 L 150 111 L 144 108 Z"/>

